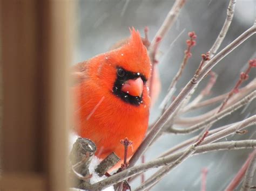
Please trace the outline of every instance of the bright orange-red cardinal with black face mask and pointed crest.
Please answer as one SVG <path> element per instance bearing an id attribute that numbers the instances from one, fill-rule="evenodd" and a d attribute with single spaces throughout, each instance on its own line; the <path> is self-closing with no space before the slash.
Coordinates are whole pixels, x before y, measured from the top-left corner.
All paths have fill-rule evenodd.
<path id="1" fill-rule="evenodd" d="M 142 143 L 149 122 L 150 68 L 147 49 L 134 29 L 121 47 L 75 66 L 76 131 L 97 145 L 98 158 L 114 152 L 123 159 L 120 140 L 125 137 L 133 142 L 128 158 Z"/>

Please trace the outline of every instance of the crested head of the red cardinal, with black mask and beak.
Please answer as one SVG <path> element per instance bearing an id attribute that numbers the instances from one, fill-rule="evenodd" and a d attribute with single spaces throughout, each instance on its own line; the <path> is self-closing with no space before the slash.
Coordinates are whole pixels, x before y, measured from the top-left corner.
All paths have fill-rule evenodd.
<path id="1" fill-rule="evenodd" d="M 126 103 L 139 106 L 148 97 L 146 86 L 150 77 L 150 59 L 140 34 L 134 28 L 126 43 L 100 55 L 100 78 L 112 94 Z"/>

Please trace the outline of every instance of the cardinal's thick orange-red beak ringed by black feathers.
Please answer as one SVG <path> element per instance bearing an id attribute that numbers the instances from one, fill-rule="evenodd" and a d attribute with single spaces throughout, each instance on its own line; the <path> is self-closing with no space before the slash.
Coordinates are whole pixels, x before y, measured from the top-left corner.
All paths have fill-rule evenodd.
<path id="1" fill-rule="evenodd" d="M 140 77 L 137 79 L 131 79 L 127 80 L 123 86 L 122 86 L 122 91 L 124 93 L 130 94 L 131 96 L 142 96 L 142 91 L 143 91 L 143 81 Z"/>

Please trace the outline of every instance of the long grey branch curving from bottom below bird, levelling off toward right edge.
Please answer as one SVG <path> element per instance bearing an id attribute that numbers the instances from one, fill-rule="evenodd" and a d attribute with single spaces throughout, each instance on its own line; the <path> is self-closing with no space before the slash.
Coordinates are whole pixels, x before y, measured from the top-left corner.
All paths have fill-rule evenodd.
<path id="1" fill-rule="evenodd" d="M 196 147 L 196 152 L 194 154 L 200 154 L 205 152 L 211 151 L 220 151 L 220 150 L 235 150 L 235 149 L 242 149 L 242 148 L 254 148 L 256 146 L 256 140 L 241 140 L 241 141 L 234 141 L 234 142 L 220 142 L 220 143 L 212 143 L 203 146 Z M 90 189 L 104 189 L 109 187 L 117 182 L 126 180 L 127 178 L 145 172 L 151 168 L 157 168 L 159 166 L 169 165 L 171 162 L 177 160 L 184 151 L 172 154 L 168 157 L 163 157 L 159 159 L 152 160 L 150 162 L 145 162 L 144 164 L 134 166 L 131 168 L 126 169 L 120 173 L 114 174 L 102 181 L 94 183 Z"/>

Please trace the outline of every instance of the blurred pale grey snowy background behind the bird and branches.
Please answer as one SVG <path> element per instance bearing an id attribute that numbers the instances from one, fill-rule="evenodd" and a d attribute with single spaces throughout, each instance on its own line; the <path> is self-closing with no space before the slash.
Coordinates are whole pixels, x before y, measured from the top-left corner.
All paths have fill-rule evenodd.
<path id="1" fill-rule="evenodd" d="M 177 21 L 160 46 L 161 55 L 158 67 L 162 89 L 157 103 L 151 110 L 150 122 L 153 122 L 159 116 L 159 105 L 166 95 L 167 88 L 173 76 L 176 75 L 183 59 L 186 39 L 188 39 L 187 33 L 190 31 L 196 32 L 198 36 L 197 45 L 192 48 L 193 55 L 188 60 L 174 95 L 177 95 L 180 89 L 193 76 L 201 61 L 200 55 L 206 53 L 213 45 L 224 24 L 228 2 L 224 0 L 188 0 L 184 8 L 181 9 Z M 144 27 L 149 26 L 149 39 L 152 40 L 173 3 L 174 1 L 171 0 L 79 1 L 75 19 L 77 38 L 75 40 L 73 63 L 84 61 L 106 52 L 118 40 L 129 37 L 129 27 L 132 26 L 138 29 L 142 36 L 144 36 Z M 237 1 L 233 22 L 219 51 L 252 26 L 255 16 L 256 1 Z M 252 56 L 255 58 L 255 50 L 256 37 L 253 36 L 221 60 L 213 69 L 218 74 L 218 79 L 212 89 L 212 94 L 208 97 L 214 97 L 230 91 L 235 81 L 239 79 L 240 72 L 247 67 L 247 61 L 252 59 Z M 254 79 L 255 76 L 256 70 L 253 69 L 250 79 L 243 86 Z M 193 97 L 200 92 L 206 82 L 207 79 L 200 83 Z M 239 109 L 232 115 L 215 123 L 212 129 L 255 115 L 255 105 L 254 101 L 246 106 L 245 111 L 243 111 L 244 108 Z M 215 104 L 212 107 L 194 110 L 187 116 L 204 114 L 204 112 L 217 106 L 218 104 Z M 192 135 L 162 136 L 145 154 L 146 161 L 156 158 L 168 148 L 195 135 L 197 133 Z M 227 140 L 248 139 L 249 137 L 256 138 L 255 126 L 249 128 L 249 132 L 246 135 L 229 136 Z M 249 150 L 220 151 L 194 156 L 174 169 L 158 185 L 154 186 L 153 190 L 200 190 L 201 169 L 204 167 L 208 168 L 207 190 L 222 190 L 238 172 L 248 153 L 250 153 Z M 145 173 L 146 177 L 149 177 L 152 172 L 154 171 Z M 134 188 L 139 182 L 140 179 L 132 183 L 131 186 Z"/>

